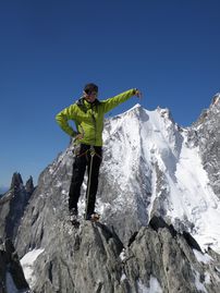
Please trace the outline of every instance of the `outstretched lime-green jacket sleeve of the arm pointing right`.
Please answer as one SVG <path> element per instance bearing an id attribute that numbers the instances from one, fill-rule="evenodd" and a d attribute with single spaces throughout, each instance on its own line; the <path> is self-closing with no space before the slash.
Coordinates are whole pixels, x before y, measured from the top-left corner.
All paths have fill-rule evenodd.
<path id="1" fill-rule="evenodd" d="M 115 97 L 103 100 L 102 101 L 103 112 L 107 113 L 111 111 L 113 108 L 115 108 L 117 106 L 119 106 L 120 103 L 129 100 L 132 96 L 135 95 L 135 90 L 136 90 L 135 88 L 132 88 L 122 94 L 119 94 Z"/>

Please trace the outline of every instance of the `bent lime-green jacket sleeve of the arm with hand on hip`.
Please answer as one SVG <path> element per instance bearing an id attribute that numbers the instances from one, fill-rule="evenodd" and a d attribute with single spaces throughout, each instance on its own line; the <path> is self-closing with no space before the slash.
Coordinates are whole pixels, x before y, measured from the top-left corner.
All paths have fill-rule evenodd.
<path id="1" fill-rule="evenodd" d="M 71 127 L 71 125 L 69 124 L 69 120 L 77 120 L 77 112 L 74 105 L 71 105 L 70 107 L 63 109 L 56 115 L 56 121 L 58 122 L 60 127 L 70 136 L 74 137 L 76 136 L 77 132 L 75 132 L 73 127 Z"/>

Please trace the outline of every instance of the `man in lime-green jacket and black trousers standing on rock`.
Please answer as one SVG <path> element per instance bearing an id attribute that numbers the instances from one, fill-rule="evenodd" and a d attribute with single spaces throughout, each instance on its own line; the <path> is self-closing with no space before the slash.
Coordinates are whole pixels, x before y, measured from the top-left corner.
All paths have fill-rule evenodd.
<path id="1" fill-rule="evenodd" d="M 103 117 L 118 105 L 126 101 L 132 96 L 140 97 L 138 89 L 132 88 L 107 100 L 98 100 L 98 86 L 87 84 L 83 96 L 70 107 L 57 114 L 56 120 L 60 127 L 74 137 L 75 160 L 69 192 L 69 210 L 71 221 L 77 221 L 77 203 L 81 195 L 84 174 L 87 167 L 87 191 L 86 191 L 86 220 L 98 220 L 95 211 L 96 194 L 98 190 L 98 175 L 102 157 L 102 131 Z M 69 121 L 75 122 L 76 131 L 72 129 Z"/>

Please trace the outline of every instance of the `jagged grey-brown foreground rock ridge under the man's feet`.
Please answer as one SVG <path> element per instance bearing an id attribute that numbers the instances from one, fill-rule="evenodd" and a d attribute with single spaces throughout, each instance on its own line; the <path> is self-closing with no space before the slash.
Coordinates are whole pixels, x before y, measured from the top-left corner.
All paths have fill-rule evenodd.
<path id="1" fill-rule="evenodd" d="M 37 248 L 37 247 L 36 247 Z M 123 246 L 114 231 L 58 221 L 34 263 L 33 292 L 219 292 L 220 256 L 203 253 L 188 233 L 152 218 Z"/>

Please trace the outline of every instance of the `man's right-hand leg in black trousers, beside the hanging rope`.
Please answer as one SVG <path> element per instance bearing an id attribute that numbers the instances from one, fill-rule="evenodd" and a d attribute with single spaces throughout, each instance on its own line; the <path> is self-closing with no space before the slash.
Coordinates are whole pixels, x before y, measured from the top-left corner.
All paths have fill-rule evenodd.
<path id="1" fill-rule="evenodd" d="M 98 190 L 99 169 L 101 164 L 101 147 L 95 147 L 96 155 L 91 158 L 89 154 L 88 160 L 88 182 L 86 191 L 86 218 L 95 211 L 96 194 Z"/>

